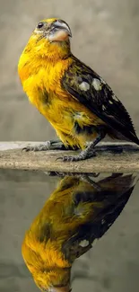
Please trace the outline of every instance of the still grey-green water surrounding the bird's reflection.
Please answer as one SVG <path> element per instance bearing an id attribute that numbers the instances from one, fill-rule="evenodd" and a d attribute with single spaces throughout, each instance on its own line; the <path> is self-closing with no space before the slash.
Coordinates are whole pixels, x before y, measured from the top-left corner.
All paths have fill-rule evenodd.
<path id="1" fill-rule="evenodd" d="M 94 181 L 109 175 L 100 173 Z M 47 173 L 0 171 L 0 291 L 39 291 L 22 259 L 22 240 L 61 180 L 63 177 Z M 135 188 L 114 224 L 89 252 L 75 261 L 73 291 L 138 291 L 139 184 L 136 181 L 137 175 Z"/>

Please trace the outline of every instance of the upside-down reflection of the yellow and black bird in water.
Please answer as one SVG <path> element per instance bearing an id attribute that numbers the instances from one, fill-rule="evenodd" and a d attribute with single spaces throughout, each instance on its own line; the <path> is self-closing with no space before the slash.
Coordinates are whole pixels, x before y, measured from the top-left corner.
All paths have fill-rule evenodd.
<path id="1" fill-rule="evenodd" d="M 42 291 L 70 291 L 74 260 L 113 224 L 134 189 L 122 174 L 95 184 L 77 177 L 59 182 L 25 234 L 22 256 Z"/>

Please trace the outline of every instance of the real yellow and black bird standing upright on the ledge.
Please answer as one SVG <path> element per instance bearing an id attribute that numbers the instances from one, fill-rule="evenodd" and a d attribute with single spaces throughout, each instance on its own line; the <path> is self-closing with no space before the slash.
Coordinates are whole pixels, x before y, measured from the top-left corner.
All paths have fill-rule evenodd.
<path id="1" fill-rule="evenodd" d="M 71 51 L 69 25 L 59 19 L 42 20 L 32 32 L 18 62 L 23 91 L 48 119 L 62 145 L 81 149 L 62 161 L 81 161 L 96 155 L 95 146 L 106 136 L 139 145 L 126 108 L 100 75 Z M 87 143 L 89 146 L 87 146 Z M 56 148 L 52 141 L 26 151 Z"/>

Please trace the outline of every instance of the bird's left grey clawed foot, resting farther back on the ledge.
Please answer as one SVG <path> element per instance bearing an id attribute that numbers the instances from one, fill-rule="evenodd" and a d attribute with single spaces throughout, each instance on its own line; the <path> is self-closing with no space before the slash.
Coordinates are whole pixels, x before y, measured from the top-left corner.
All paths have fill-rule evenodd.
<path id="1" fill-rule="evenodd" d="M 67 148 L 69 150 L 69 148 Z M 36 146 L 26 146 L 24 151 L 47 151 L 47 150 L 66 150 L 64 144 L 59 140 L 49 140 Z"/>

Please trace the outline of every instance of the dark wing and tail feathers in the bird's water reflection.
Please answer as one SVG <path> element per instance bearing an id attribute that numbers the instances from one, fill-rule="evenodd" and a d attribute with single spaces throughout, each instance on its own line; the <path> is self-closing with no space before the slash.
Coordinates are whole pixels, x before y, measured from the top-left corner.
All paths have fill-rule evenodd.
<path id="1" fill-rule="evenodd" d="M 75 206 L 81 202 L 94 204 L 90 220 L 73 229 L 73 235 L 62 246 L 62 252 L 68 261 L 72 262 L 84 252 L 89 251 L 94 240 L 100 239 L 109 230 L 125 208 L 126 202 L 135 188 L 134 177 L 130 174 L 123 176 L 122 173 L 118 173 L 117 176 L 109 176 L 99 181 L 98 184 L 101 190 L 74 192 Z M 99 203 L 101 203 L 101 207 L 98 208 Z M 82 247 L 80 243 L 83 240 L 87 240 L 89 244 Z"/>

